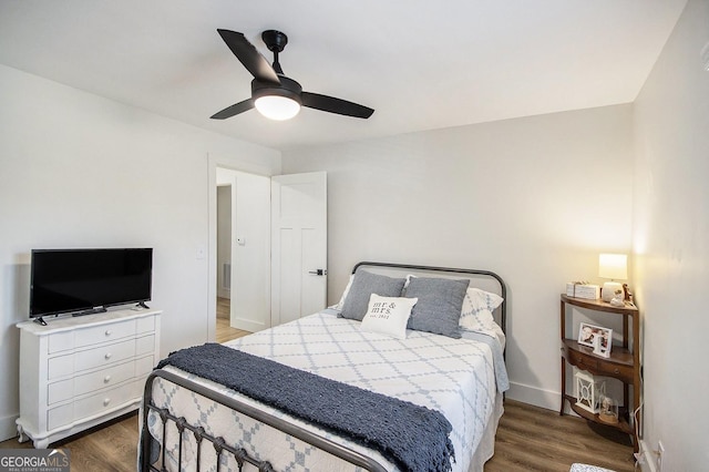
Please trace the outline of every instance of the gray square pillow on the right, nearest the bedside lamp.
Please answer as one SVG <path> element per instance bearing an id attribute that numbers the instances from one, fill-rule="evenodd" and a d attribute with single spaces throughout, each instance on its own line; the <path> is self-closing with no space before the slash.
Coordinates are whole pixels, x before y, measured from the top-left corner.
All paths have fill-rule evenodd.
<path id="1" fill-rule="evenodd" d="M 412 277 L 404 293 L 418 298 L 407 328 L 460 338 L 458 325 L 469 279 Z"/>

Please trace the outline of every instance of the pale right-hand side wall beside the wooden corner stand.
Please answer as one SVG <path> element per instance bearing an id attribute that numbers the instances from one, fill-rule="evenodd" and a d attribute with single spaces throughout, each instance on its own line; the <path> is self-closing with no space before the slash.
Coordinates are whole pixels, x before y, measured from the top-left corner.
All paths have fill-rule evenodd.
<path id="1" fill-rule="evenodd" d="M 644 445 L 662 441 L 665 471 L 709 466 L 709 72 L 700 61 L 708 25 L 709 2 L 690 0 L 635 106 Z"/>

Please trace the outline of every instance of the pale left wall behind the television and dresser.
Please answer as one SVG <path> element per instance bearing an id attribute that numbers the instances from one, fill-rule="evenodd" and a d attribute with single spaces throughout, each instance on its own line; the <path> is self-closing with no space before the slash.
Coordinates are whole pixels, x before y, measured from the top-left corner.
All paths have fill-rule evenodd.
<path id="1" fill-rule="evenodd" d="M 236 156 L 245 167 L 275 173 L 280 156 L 2 65 L 0 103 L 4 439 L 14 435 L 19 412 L 14 324 L 28 318 L 30 249 L 154 247 L 151 306 L 164 310 L 162 353 L 204 342 L 209 331 L 207 155 Z"/>

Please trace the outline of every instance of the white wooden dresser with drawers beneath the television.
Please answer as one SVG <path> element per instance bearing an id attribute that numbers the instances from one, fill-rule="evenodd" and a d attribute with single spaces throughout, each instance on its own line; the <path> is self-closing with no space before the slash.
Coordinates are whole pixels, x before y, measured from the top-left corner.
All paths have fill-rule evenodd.
<path id="1" fill-rule="evenodd" d="M 160 360 L 161 314 L 124 309 L 19 324 L 20 441 L 47 448 L 137 409 Z"/>

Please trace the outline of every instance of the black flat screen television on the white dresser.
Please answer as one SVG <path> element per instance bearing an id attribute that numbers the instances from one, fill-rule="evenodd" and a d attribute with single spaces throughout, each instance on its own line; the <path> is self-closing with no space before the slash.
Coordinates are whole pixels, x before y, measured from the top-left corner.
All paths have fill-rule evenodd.
<path id="1" fill-rule="evenodd" d="M 153 248 L 33 249 L 30 317 L 88 315 L 151 299 Z"/>

